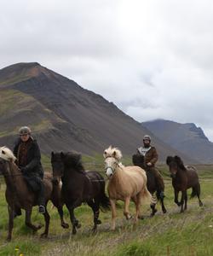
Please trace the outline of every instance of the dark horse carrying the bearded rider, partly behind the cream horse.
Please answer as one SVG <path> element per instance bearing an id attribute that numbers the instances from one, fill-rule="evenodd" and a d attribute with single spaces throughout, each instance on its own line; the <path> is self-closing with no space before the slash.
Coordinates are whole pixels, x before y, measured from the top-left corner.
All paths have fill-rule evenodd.
<path id="1" fill-rule="evenodd" d="M 164 195 L 161 195 L 161 191 L 164 191 L 164 180 L 162 177 L 158 177 L 160 180 L 157 183 L 156 177 L 154 177 L 154 174 L 152 171 L 149 171 L 149 167 L 146 165 L 144 161 L 144 156 L 141 154 L 133 154 L 132 155 L 132 163 L 134 166 L 140 166 L 143 170 L 145 170 L 147 174 L 147 189 L 151 193 L 151 195 L 154 195 L 156 192 L 157 200 L 161 203 L 161 209 L 162 212 L 166 213 L 166 208 L 164 207 Z M 156 204 L 150 205 L 152 209 L 151 216 L 154 216 L 154 214 L 157 212 Z"/>

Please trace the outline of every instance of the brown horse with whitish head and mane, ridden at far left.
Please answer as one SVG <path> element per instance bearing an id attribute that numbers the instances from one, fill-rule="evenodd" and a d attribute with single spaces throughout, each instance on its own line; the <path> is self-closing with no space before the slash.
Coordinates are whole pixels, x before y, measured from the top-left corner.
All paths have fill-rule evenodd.
<path id="1" fill-rule="evenodd" d="M 15 208 L 22 208 L 26 211 L 26 226 L 31 228 L 33 231 L 37 231 L 42 228 L 41 224 L 34 225 L 31 221 L 32 207 L 37 205 L 37 198 L 35 192 L 32 192 L 26 184 L 26 180 L 20 172 L 20 168 L 16 166 L 14 161 L 16 160 L 13 152 L 6 147 L 0 148 L 0 171 L 3 174 L 6 191 L 5 197 L 8 203 L 9 211 L 9 230 L 7 240 L 11 241 L 12 230 L 14 226 L 14 210 Z M 47 203 L 51 200 L 61 215 L 61 224 L 64 228 L 68 228 L 63 220 L 63 211 L 61 208 L 59 193 L 56 193 L 58 188 L 53 186 L 51 173 L 45 172 L 43 177 L 43 184 L 45 189 L 45 213 L 43 213 L 45 220 L 45 229 L 41 237 L 47 237 L 49 234 L 49 212 L 47 211 Z M 57 194 L 57 196 L 56 196 Z M 61 213 L 62 211 L 62 213 Z"/>

